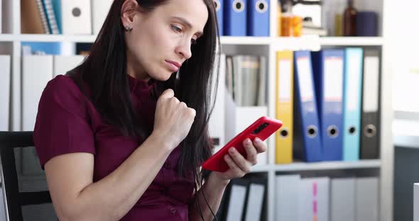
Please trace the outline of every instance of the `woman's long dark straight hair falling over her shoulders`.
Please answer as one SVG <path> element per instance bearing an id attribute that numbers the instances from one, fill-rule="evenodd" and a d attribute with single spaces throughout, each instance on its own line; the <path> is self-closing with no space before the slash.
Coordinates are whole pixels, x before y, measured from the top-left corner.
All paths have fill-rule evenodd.
<path id="1" fill-rule="evenodd" d="M 165 4 L 168 0 L 137 0 L 141 12 L 148 13 Z M 192 47 L 192 57 L 180 68 L 180 77 L 172 74 L 168 81 L 156 81 L 156 98 L 165 89 L 173 89 L 175 96 L 196 111 L 195 121 L 189 134 L 182 142 L 182 154 L 179 161 L 179 173 L 185 176 L 191 171 L 195 183 L 202 183 L 206 177 L 199 166 L 212 153 L 212 142 L 208 135 L 208 120 L 212 112 L 211 99 L 214 84 L 218 84 L 219 60 L 216 50 L 219 47 L 219 30 L 213 0 L 202 0 L 208 9 L 208 21 L 197 44 Z M 102 29 L 92 45 L 89 56 L 69 75 L 77 86 L 85 91 L 89 89 L 89 99 L 102 118 L 109 125 L 119 128 L 126 136 L 144 140 L 150 132 L 143 119 L 136 116 L 131 105 L 129 83 L 126 73 L 126 42 L 124 26 L 121 23 L 121 6 L 124 0 L 116 0 L 111 6 Z M 219 56 L 217 56 L 219 57 Z M 214 78 L 212 75 L 217 74 Z M 215 81 L 212 81 L 215 79 Z"/>

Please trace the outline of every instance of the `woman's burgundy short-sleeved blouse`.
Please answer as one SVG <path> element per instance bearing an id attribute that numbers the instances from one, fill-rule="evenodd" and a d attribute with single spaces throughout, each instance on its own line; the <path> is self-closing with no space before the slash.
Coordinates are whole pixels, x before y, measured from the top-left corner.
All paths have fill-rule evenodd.
<path id="1" fill-rule="evenodd" d="M 131 101 L 138 115 L 153 127 L 156 101 L 146 81 L 129 77 Z M 99 181 L 131 155 L 142 140 L 126 138 L 107 125 L 70 77 L 48 82 L 40 98 L 34 129 L 41 166 L 60 154 L 94 154 L 94 181 Z M 157 147 L 156 147 L 157 148 Z M 130 220 L 187 220 L 193 179 L 178 176 L 181 148 L 177 147 L 136 205 L 122 218 Z"/>

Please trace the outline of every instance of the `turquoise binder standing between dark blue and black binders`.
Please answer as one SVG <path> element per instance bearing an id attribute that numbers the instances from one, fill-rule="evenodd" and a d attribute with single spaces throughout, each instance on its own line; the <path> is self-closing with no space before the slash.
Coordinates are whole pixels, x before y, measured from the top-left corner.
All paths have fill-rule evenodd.
<path id="1" fill-rule="evenodd" d="M 343 159 L 359 159 L 361 136 L 362 48 L 347 48 L 344 63 Z"/>

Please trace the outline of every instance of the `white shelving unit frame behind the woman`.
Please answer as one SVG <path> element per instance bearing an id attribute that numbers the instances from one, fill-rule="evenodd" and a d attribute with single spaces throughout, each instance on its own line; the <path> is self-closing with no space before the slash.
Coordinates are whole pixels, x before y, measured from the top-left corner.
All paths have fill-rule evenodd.
<path id="1" fill-rule="evenodd" d="M 3 13 L 7 16 L 6 32 L 0 34 L 0 53 L 12 55 L 12 107 L 11 107 L 11 130 L 21 130 L 21 43 L 22 42 L 94 42 L 95 35 L 31 35 L 20 34 L 20 1 L 3 0 L 10 13 Z M 332 1 L 332 0 L 329 0 Z M 355 4 L 359 3 L 355 1 Z M 389 0 L 376 0 L 379 2 L 381 27 L 389 21 L 386 17 L 391 10 Z M 384 4 L 384 2 L 386 4 Z M 268 164 L 255 166 L 254 173 L 266 173 L 268 175 L 268 213 L 267 220 L 274 220 L 275 211 L 275 176 L 281 172 L 300 171 L 325 171 L 325 170 L 364 170 L 376 169 L 380 177 L 379 220 L 393 220 L 393 142 L 391 131 L 391 120 L 393 119 L 391 106 L 391 70 L 388 69 L 390 53 L 386 48 L 386 35 L 388 30 L 383 30 L 380 37 L 358 38 L 358 37 L 325 37 L 304 36 L 301 38 L 278 38 L 276 37 L 277 27 L 277 0 L 270 0 L 271 3 L 271 36 L 264 38 L 256 37 L 222 37 L 222 51 L 230 54 L 246 53 L 251 55 L 265 55 L 268 57 L 268 115 L 275 116 L 275 74 L 276 74 L 276 51 L 278 50 L 320 50 L 321 47 L 377 47 L 382 52 L 381 72 L 381 159 L 361 160 L 359 162 L 319 162 L 319 163 L 293 163 L 285 165 L 274 164 L 275 141 L 268 140 Z M 327 4 L 327 1 L 325 1 Z M 371 8 L 368 8 L 371 9 Z"/>

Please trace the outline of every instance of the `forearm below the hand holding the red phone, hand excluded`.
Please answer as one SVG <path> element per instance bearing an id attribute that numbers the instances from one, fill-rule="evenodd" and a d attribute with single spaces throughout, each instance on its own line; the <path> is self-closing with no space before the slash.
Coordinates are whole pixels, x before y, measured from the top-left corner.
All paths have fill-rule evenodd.
<path id="1" fill-rule="evenodd" d="M 192 221 L 202 220 L 200 208 L 198 208 L 199 203 L 204 220 L 212 220 L 213 216 L 211 210 L 208 208 L 208 205 L 212 209 L 212 212 L 216 214 L 227 184 L 229 184 L 229 180 L 219 179 L 214 173 L 210 174 L 208 180 L 204 183 L 204 185 L 202 185 L 202 188 L 195 193 L 195 196 L 191 201 L 189 219 Z M 205 202 L 204 194 L 208 205 Z"/>

